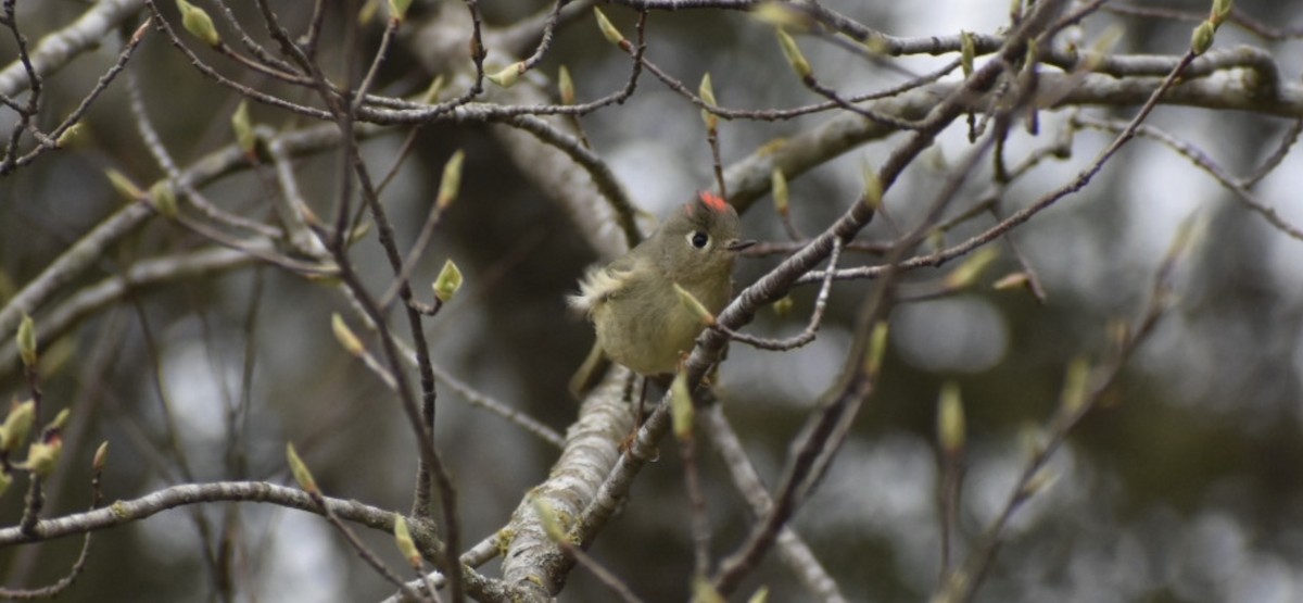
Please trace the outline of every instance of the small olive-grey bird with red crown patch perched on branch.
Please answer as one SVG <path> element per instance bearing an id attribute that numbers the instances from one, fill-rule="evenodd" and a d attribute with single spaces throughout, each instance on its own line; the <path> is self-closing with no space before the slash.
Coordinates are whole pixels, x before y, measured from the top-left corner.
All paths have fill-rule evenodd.
<path id="1" fill-rule="evenodd" d="M 737 211 L 704 192 L 628 253 L 590 269 L 569 305 L 588 313 L 597 345 L 571 390 L 585 395 L 605 373 L 605 359 L 642 376 L 674 372 L 705 328 L 674 285 L 718 313 L 732 296 L 734 258 L 753 243 L 737 239 Z"/>

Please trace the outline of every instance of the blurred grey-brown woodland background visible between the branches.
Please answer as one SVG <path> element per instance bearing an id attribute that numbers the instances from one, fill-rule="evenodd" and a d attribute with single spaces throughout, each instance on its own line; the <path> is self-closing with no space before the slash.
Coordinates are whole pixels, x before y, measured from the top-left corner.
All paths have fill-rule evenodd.
<path id="1" fill-rule="evenodd" d="M 413 20 L 433 10 L 427 3 L 416 4 Z M 960 30 L 995 34 L 1007 22 L 1009 3 L 827 5 L 906 37 Z M 1153 5 L 1197 14 L 1208 3 Z M 308 3 L 276 7 L 294 26 L 305 22 L 310 9 Z M 500 27 L 549 4 L 483 1 L 481 8 L 486 26 Z M 22 31 L 35 40 L 85 9 L 83 3 L 66 0 L 20 3 L 17 16 Z M 253 7 L 235 9 L 254 22 Z M 171 5 L 163 10 L 175 17 Z M 339 7 L 331 10 L 327 22 L 335 27 L 351 18 L 335 12 Z M 1296 3 L 1240 1 L 1237 10 L 1263 23 L 1303 25 Z M 633 31 L 632 10 L 609 7 L 606 12 L 627 34 Z M 129 20 L 125 30 L 138 23 Z M 1122 33 L 1115 54 L 1177 55 L 1187 47 L 1194 23 L 1105 12 L 1087 20 L 1080 33 L 1066 35 L 1079 35 L 1087 44 L 1110 26 Z M 374 48 L 379 26 L 364 31 L 367 47 Z M 1296 81 L 1303 69 L 1296 37 L 1273 40 L 1225 26 L 1217 46 L 1235 43 L 1270 52 L 1283 81 Z M 43 114 L 51 123 L 81 100 L 120 47 L 120 39 L 106 39 L 91 56 L 46 80 Z M 801 47 L 821 81 L 839 90 L 870 91 L 906 78 L 820 39 L 803 38 Z M 330 54 L 337 51 L 326 48 L 323 63 L 331 64 L 336 57 Z M 12 37 L 0 35 L 0 59 L 8 64 L 14 56 Z M 229 61 L 203 56 L 246 84 L 276 89 Z M 788 70 L 771 27 L 741 12 L 653 13 L 648 57 L 689 84 L 709 70 L 727 107 L 817 100 Z M 907 57 L 891 64 L 924 73 L 951 59 Z M 619 89 L 629 69 L 628 56 L 602 40 L 588 14 L 563 26 L 538 73 L 555 74 L 563 64 L 581 100 Z M 150 34 L 129 70 L 179 163 L 190 164 L 229 144 L 228 117 L 238 98 L 198 76 L 163 37 Z M 378 87 L 383 94 L 410 94 L 430 77 L 413 52 L 399 44 L 384 63 Z M 308 94 L 280 91 L 300 99 Z M 1010 155 L 1048 145 L 1071 111 L 1042 111 L 1041 133 L 1019 131 L 1010 141 Z M 1081 111 L 1126 120 L 1136 107 Z M 255 121 L 278 131 L 304 125 L 300 117 L 263 106 L 253 106 L 253 114 Z M 830 117 L 723 121 L 723 162 L 727 166 Z M 12 111 L 0 110 L 5 132 L 14 119 Z M 109 87 L 83 121 L 87 140 L 77 149 L 43 155 L 0 178 L 0 303 L 122 206 L 103 176 L 106 168 L 137 183 L 160 178 L 130 119 L 125 78 Z M 627 103 L 580 121 L 594 153 L 650 214 L 663 215 L 693 191 L 713 184 L 698 110 L 650 77 L 640 81 Z M 1247 112 L 1166 106 L 1148 123 L 1197 145 L 1238 175 L 1259 166 L 1291 125 Z M 374 170 L 383 172 L 394 163 L 408 132 L 395 128 L 365 144 Z M 859 196 L 863 167 L 881 164 L 899 140 L 864 145 L 792 180 L 797 227 L 814 234 L 840 215 Z M 1071 158 L 1045 162 L 1020 180 L 1001 198 L 1001 213 L 1016 211 L 1074 178 L 1109 140 L 1105 133 L 1079 132 Z M 919 208 L 949 174 L 950 161 L 967 147 L 966 128 L 956 123 L 891 188 L 885 201 L 891 218 L 902 224 L 917 218 Z M 593 338 L 589 325 L 567 311 L 564 296 L 576 291 L 585 266 L 598 261 L 595 252 L 556 200 L 539 193 L 513 167 L 490 127 L 429 125 L 418 131 L 414 149 L 384 194 L 403 245 L 410 244 L 429 211 L 443 163 L 457 149 L 466 153 L 461 194 L 413 273 L 416 283 L 431 282 L 447 258 L 465 273 L 466 286 L 457 299 L 427 321 L 437 363 L 474 389 L 564 432 L 577 409 L 566 382 Z M 331 154 L 297 166 L 314 208 L 331 208 L 337 194 L 336 166 Z M 973 202 L 989 180 L 989 166 L 984 166 L 969 179 L 956 208 Z M 271 181 L 265 166 L 223 178 L 205 193 L 231 211 L 268 219 Z M 1303 162 L 1291 154 L 1256 192 L 1282 219 L 1299 224 L 1300 189 Z M 1015 514 L 977 599 L 1303 599 L 1303 243 L 1247 211 L 1188 159 L 1139 138 L 1087 189 L 1012 232 L 1027 268 L 1044 286 L 1044 303 L 1023 290 L 989 287 L 1022 269 L 1010 243 L 999 241 L 1001 258 L 981 286 L 893 312 L 893 342 L 878 390 L 795 521 L 851 600 L 921 600 L 937 586 L 934 420 L 942 384 L 959 385 L 968 418 L 958 544 L 963 555 L 1007 500 L 1028 457 L 1028 436 L 1044 427 L 1058 405 L 1068 362 L 1101 358 L 1109 322 L 1135 321 L 1141 315 L 1177 227 L 1191 215 L 1208 224 L 1207 236 L 1174 275 L 1178 302 L 1126 365 L 1105 403 L 1054 456 L 1053 486 Z M 992 218 L 976 219 L 949 232 L 945 241 L 956 243 L 992 223 Z M 767 198 L 743 215 L 743 224 L 751 238 L 786 240 Z M 860 240 L 887 241 L 893 234 L 878 221 Z M 207 244 L 156 218 L 115 245 L 94 274 L 68 290 L 120 274 L 145 258 Z M 353 260 L 374 292 L 388 286 L 391 271 L 374 234 L 354 247 Z M 739 285 L 780 260 L 741 260 Z M 844 265 L 876 261 L 860 253 L 843 257 Z M 907 281 L 936 282 L 950 269 L 917 270 Z M 851 318 L 870 285 L 837 283 L 829 321 L 807 347 L 775 354 L 732 346 L 719 377 L 719 397 L 769 484 L 778 479 L 787 446 L 812 405 L 840 371 Z M 185 482 L 288 483 L 283 450 L 293 441 L 327 493 L 408 509 L 416 466 L 410 429 L 399 402 L 334 341 L 330 316 L 347 308 L 330 295 L 328 286 L 272 266 L 241 266 L 132 291 L 57 341 L 43 342 L 47 409 L 73 410 L 64 459 L 50 483 L 47 517 L 89 505 L 89 465 L 100 441 L 112 446 L 104 476 L 109 500 Z M 423 286 L 416 290 L 429 298 Z M 761 312 L 747 330 L 767 337 L 800 332 L 814 294 L 813 286 L 796 290 L 791 315 Z M 39 322 L 42 309 L 35 317 Z M 0 368 L 0 395 L 26 397 L 17 365 Z M 499 529 L 558 454 L 444 386 L 439 388 L 438 427 L 438 445 L 457 480 L 468 543 Z M 592 549 L 644 600 L 688 596 L 692 542 L 675 448 L 662 444 L 661 461 L 642 471 L 632 500 Z M 749 514 L 709 445 L 704 450 L 714 548 L 724 555 L 745 534 Z M 23 488 L 20 480 L 0 501 L 5 525 L 17 522 Z M 364 535 L 399 565 L 390 536 Z M 224 555 L 222 543 L 237 553 Z M 66 573 L 79 546 L 79 539 L 68 538 L 0 551 L 0 583 L 50 583 Z M 790 570 L 770 557 L 741 593 L 764 583 L 771 589 L 770 600 L 803 600 L 807 594 Z M 315 516 L 259 504 L 211 504 L 96 533 L 85 573 L 61 596 L 222 600 L 219 583 L 233 585 L 232 600 L 377 600 L 392 590 Z M 586 572 L 576 570 L 560 600 L 610 599 Z"/>

